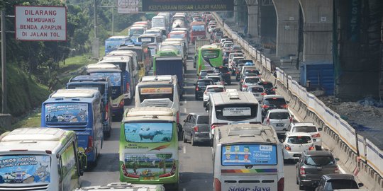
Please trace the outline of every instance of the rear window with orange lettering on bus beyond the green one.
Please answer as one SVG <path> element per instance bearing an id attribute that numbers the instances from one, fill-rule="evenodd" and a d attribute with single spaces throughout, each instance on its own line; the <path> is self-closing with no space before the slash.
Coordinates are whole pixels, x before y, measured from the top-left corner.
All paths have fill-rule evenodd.
<path id="1" fill-rule="evenodd" d="M 165 99 L 173 101 L 174 91 L 172 86 L 145 86 L 140 87 L 140 102 L 145 99 Z"/>

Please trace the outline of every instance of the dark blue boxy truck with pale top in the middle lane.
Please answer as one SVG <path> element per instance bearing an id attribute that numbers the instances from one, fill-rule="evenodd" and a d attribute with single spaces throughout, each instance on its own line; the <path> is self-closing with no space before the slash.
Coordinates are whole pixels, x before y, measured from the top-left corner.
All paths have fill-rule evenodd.
<path id="1" fill-rule="evenodd" d="M 178 50 L 166 48 L 158 51 L 155 57 L 153 57 L 153 71 L 155 75 L 176 75 L 179 88 L 181 88 L 179 94 L 182 95 L 184 64 L 182 56 L 178 54 Z"/>

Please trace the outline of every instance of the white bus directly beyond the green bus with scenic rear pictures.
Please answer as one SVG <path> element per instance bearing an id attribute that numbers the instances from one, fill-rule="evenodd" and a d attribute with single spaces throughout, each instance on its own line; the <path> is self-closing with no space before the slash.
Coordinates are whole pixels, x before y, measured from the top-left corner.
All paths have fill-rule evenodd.
<path id="1" fill-rule="evenodd" d="M 179 86 L 177 76 L 143 76 L 135 86 L 135 107 L 166 107 L 174 111 L 179 124 Z"/>

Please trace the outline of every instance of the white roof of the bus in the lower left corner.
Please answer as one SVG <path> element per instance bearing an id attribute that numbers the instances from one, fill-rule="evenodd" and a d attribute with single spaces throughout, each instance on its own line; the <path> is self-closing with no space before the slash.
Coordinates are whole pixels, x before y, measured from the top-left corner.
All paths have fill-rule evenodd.
<path id="1" fill-rule="evenodd" d="M 20 128 L 0 136 L 0 151 L 56 151 L 74 138 L 72 131 L 56 128 Z"/>

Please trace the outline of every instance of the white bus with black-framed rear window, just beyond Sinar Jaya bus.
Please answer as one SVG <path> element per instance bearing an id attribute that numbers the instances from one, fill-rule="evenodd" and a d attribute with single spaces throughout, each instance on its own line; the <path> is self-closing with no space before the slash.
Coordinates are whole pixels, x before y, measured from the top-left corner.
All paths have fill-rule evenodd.
<path id="1" fill-rule="evenodd" d="M 226 92 L 211 93 L 209 97 L 210 139 L 213 139 L 213 129 L 235 123 L 262 123 L 262 108 L 250 92 L 238 92 L 227 89 Z"/>

